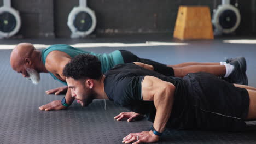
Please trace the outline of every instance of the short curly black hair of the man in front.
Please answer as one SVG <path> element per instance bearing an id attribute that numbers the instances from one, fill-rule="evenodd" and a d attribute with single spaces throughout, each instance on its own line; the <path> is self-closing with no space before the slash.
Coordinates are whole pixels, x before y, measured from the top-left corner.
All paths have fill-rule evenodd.
<path id="1" fill-rule="evenodd" d="M 63 76 L 72 77 L 75 80 L 90 78 L 100 79 L 101 62 L 94 55 L 80 54 L 66 64 L 62 72 Z"/>

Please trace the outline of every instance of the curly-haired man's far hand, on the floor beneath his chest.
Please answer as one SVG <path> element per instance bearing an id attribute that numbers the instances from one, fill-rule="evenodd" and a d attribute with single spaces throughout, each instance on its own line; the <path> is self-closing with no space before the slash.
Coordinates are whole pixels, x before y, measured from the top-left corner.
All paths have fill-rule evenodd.
<path id="1" fill-rule="evenodd" d="M 141 120 L 144 116 L 135 112 L 121 112 L 119 115 L 114 117 L 117 121 L 120 121 L 123 118 L 128 118 L 127 122 L 131 122 Z"/>

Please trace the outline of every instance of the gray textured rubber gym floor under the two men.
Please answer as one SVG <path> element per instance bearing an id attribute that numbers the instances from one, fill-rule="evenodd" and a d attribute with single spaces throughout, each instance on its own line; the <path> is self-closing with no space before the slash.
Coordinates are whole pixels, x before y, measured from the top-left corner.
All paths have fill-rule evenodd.
<path id="1" fill-rule="evenodd" d="M 139 35 L 85 40 L 0 40 L 0 44 L 17 44 L 21 41 L 47 45 L 96 42 L 174 42 L 169 36 L 144 37 Z M 254 76 L 256 44 L 230 44 L 223 43 L 223 40 L 224 38 L 213 41 L 186 41 L 188 45 L 182 46 L 106 46 L 84 50 L 108 53 L 116 49 L 125 49 L 139 57 L 171 65 L 188 61 L 220 62 L 225 58 L 245 56 L 249 85 L 256 87 Z M 102 100 L 95 100 L 88 107 L 73 103 L 67 110 L 40 111 L 39 106 L 53 100 L 61 100 L 63 97 L 63 95 L 46 95 L 45 91 L 63 85 L 52 79 L 49 74 L 41 74 L 40 83 L 33 85 L 11 69 L 10 52 L 11 50 L 0 50 L 0 143 L 121 143 L 123 137 L 129 133 L 148 130 L 152 125 L 145 119 L 137 122 L 115 121 L 114 116 L 127 110 L 114 105 L 111 101 L 107 101 L 107 111 L 104 110 Z M 168 129 L 158 143 L 256 143 L 256 127 L 254 126 L 256 122 L 249 122 L 248 125 L 251 126 L 238 133 Z"/>

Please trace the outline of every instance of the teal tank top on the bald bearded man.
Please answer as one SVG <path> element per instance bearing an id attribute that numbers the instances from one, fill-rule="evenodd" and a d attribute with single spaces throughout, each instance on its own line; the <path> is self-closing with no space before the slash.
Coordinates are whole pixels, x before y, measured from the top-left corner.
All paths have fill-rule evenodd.
<path id="1" fill-rule="evenodd" d="M 88 52 L 88 51 L 83 51 L 81 49 L 74 48 L 70 45 L 66 44 L 57 44 L 57 45 L 51 45 L 47 49 L 42 50 L 42 61 L 45 65 L 45 60 L 47 55 L 51 51 L 61 51 L 67 53 L 69 56 L 72 58 L 79 55 L 79 54 L 90 54 L 96 56 L 100 61 L 101 61 L 101 71 L 102 73 L 106 73 L 107 70 L 113 68 L 115 65 L 118 64 L 123 64 L 124 59 L 123 56 L 121 55 L 121 52 L 119 50 L 115 50 L 109 54 L 100 54 L 100 53 L 93 53 L 93 52 Z M 49 72 L 50 73 L 50 72 Z M 54 74 L 50 73 L 50 75 L 55 79 L 63 83 L 64 85 L 67 85 L 65 81 L 61 81 L 58 79 Z"/>

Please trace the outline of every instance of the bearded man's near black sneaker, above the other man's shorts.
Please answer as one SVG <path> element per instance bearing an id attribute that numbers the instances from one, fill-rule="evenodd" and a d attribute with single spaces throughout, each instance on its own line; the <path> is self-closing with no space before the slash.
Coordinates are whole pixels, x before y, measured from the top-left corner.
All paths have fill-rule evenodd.
<path id="1" fill-rule="evenodd" d="M 228 61 L 228 59 L 227 59 Z M 234 65 L 234 70 L 229 77 L 224 78 L 225 81 L 231 83 L 237 83 L 241 85 L 248 85 L 248 79 L 246 76 L 246 60 L 244 57 L 237 57 L 229 59 L 229 64 Z"/>

